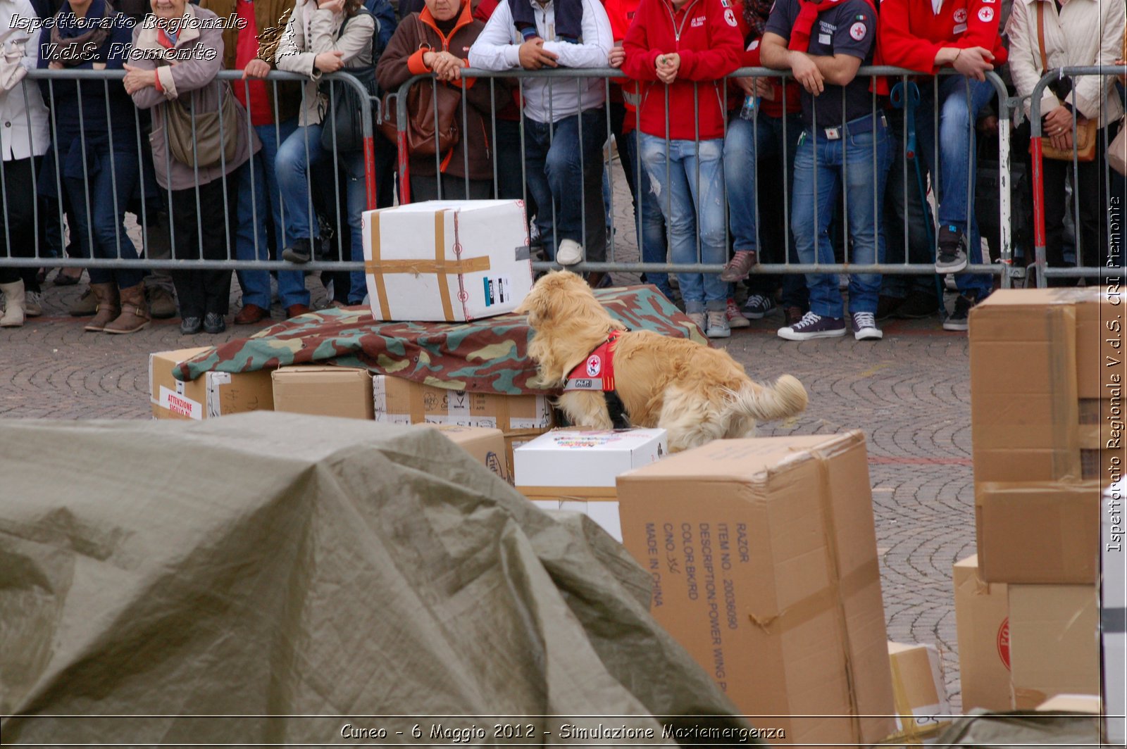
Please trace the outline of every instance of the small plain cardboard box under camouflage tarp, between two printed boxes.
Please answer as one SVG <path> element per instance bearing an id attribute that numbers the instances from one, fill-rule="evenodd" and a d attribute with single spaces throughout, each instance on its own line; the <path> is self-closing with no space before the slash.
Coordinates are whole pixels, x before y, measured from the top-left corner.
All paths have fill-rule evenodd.
<path id="1" fill-rule="evenodd" d="M 274 371 L 274 410 L 371 419 L 372 373 L 320 365 L 278 367 Z"/>

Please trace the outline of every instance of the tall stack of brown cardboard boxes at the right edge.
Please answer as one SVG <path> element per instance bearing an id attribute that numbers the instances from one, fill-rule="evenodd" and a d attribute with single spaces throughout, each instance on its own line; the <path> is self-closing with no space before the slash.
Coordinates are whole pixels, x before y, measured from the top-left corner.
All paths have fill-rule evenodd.
<path id="1" fill-rule="evenodd" d="M 977 570 L 956 565 L 964 710 L 1099 694 L 1100 488 L 1122 455 L 1119 310 L 1090 287 L 1001 291 L 971 312 L 978 554 Z M 1003 590 L 1004 637 L 992 634 Z M 1004 693 L 987 635 L 1006 656 Z"/>

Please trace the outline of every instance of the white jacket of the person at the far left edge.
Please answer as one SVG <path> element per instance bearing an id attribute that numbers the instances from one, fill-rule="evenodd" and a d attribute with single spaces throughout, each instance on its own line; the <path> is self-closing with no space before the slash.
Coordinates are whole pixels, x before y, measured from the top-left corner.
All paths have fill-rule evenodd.
<path id="1" fill-rule="evenodd" d="M 17 17 L 37 16 L 28 0 L 0 0 L 0 150 L 5 161 L 41 157 L 50 143 L 39 84 L 25 72 L 35 70 L 39 61 L 39 32 L 26 25 L 15 28 Z"/>

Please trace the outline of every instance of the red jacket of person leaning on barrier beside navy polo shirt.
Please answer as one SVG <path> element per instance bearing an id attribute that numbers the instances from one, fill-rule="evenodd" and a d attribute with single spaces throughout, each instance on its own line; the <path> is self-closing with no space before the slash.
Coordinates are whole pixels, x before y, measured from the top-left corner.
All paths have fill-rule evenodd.
<path id="1" fill-rule="evenodd" d="M 884 0 L 878 33 L 885 64 L 934 75 L 941 47 L 984 47 L 997 68 L 1006 59 L 1000 14 L 1001 0 L 943 0 L 938 14 L 931 0 Z"/>

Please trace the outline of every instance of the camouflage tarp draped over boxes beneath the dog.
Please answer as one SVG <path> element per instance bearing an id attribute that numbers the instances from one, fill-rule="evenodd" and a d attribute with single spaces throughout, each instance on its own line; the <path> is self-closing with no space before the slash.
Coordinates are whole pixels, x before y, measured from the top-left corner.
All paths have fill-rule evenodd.
<path id="1" fill-rule="evenodd" d="M 631 330 L 708 345 L 696 326 L 653 286 L 600 289 L 595 296 Z M 437 387 L 520 395 L 544 392 L 530 384 L 536 373 L 526 355 L 531 338 L 524 315 L 469 323 L 373 322 L 367 307 L 329 309 L 218 346 L 184 362 L 174 375 L 195 380 L 204 372 L 254 372 L 331 359 Z"/>

